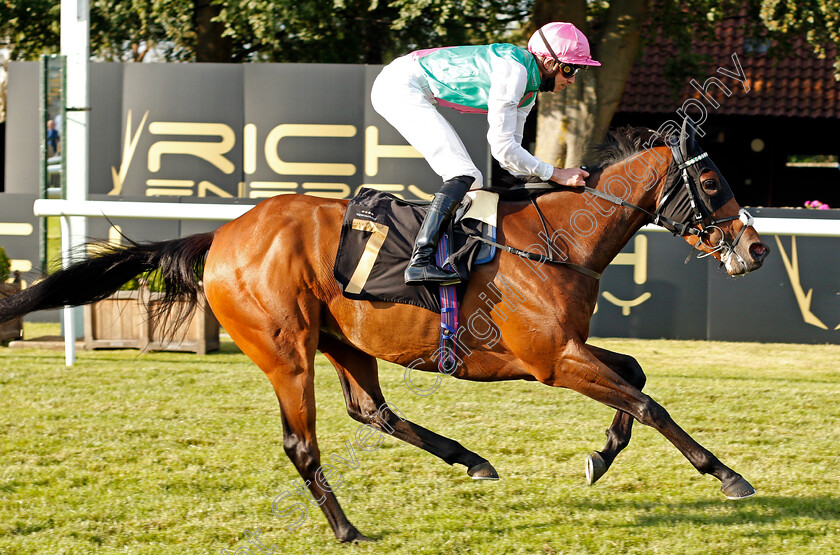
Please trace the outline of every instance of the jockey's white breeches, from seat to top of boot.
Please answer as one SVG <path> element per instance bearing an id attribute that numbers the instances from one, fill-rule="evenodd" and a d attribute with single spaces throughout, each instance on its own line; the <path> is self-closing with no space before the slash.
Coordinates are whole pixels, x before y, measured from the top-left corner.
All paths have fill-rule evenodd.
<path id="1" fill-rule="evenodd" d="M 455 129 L 437 111 L 417 61 L 403 56 L 385 66 L 373 83 L 370 100 L 373 109 L 423 155 L 441 179 L 468 175 L 475 178 L 472 189 L 481 187 L 481 172 Z"/>

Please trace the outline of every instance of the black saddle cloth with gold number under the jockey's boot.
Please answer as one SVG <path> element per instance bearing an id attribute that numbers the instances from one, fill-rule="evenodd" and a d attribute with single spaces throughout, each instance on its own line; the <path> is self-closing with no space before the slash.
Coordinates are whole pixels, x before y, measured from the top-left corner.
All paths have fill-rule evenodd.
<path id="1" fill-rule="evenodd" d="M 489 262 L 496 248 L 477 236 L 496 240 L 498 195 L 470 191 L 447 232 L 449 262 L 461 284 L 461 297 L 475 264 Z M 333 275 L 349 299 L 404 303 L 440 313 L 439 286 L 408 286 L 403 272 L 426 205 L 399 199 L 389 193 L 363 188 L 350 201 L 341 225 Z"/>

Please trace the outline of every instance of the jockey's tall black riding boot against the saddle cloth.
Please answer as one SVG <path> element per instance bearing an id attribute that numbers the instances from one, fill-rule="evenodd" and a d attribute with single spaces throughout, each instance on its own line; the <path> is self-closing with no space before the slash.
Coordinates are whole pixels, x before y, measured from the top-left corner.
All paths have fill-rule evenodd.
<path id="1" fill-rule="evenodd" d="M 460 283 L 458 272 L 443 270 L 435 265 L 435 250 L 443 228 L 455 214 L 461 199 L 467 194 L 475 178 L 469 176 L 456 177 L 444 183 L 440 192 L 435 194 L 429 211 L 423 218 L 420 231 L 414 240 L 414 250 L 411 260 L 405 269 L 406 285 L 423 285 L 437 283 L 452 285 Z"/>

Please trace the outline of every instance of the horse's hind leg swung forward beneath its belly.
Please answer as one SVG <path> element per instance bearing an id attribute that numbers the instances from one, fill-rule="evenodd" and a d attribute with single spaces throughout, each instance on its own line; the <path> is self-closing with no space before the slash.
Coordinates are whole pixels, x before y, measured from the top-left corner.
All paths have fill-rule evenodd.
<path id="1" fill-rule="evenodd" d="M 335 366 L 344 390 L 347 412 L 354 420 L 424 449 L 448 464 L 462 464 L 476 480 L 499 478 L 487 460 L 457 441 L 406 420 L 398 407 L 389 405 L 379 387 L 379 373 L 374 357 L 326 334 L 321 334 L 318 350 Z"/>

